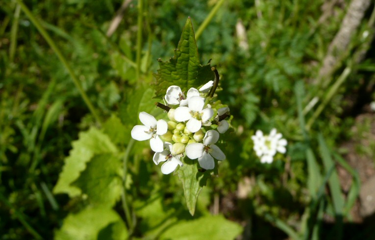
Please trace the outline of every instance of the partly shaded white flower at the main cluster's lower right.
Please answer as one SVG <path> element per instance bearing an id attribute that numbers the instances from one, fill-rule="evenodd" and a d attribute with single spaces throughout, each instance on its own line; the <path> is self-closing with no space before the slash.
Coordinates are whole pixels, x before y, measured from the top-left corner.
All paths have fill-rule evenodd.
<path id="1" fill-rule="evenodd" d="M 213 169 L 215 167 L 214 158 L 220 161 L 225 160 L 225 154 L 215 145 L 218 140 L 219 133 L 215 130 L 208 130 L 204 135 L 203 144 L 193 143 L 186 146 L 186 156 L 190 159 L 198 158 L 201 168 Z"/>

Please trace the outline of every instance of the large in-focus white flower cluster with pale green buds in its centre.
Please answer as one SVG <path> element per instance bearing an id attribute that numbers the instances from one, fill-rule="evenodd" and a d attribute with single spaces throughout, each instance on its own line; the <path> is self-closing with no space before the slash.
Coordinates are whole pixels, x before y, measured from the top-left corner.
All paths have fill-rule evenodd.
<path id="1" fill-rule="evenodd" d="M 182 167 L 184 156 L 198 159 L 204 169 L 215 167 L 214 158 L 225 160 L 225 154 L 215 144 L 219 133 L 229 128 L 225 120 L 229 117 L 229 108 L 217 102 L 209 104 L 211 98 L 205 96 L 212 86 L 213 81 L 209 81 L 199 90 L 190 88 L 186 96 L 180 87 L 170 86 L 164 97 L 169 106 L 158 103 L 168 109 L 169 121 L 156 120 L 146 112 L 139 114 L 143 125 L 134 126 L 131 137 L 138 141 L 150 139 L 150 147 L 155 152 L 153 162 L 156 165 L 165 162 L 161 166 L 163 174 L 173 172 L 178 165 Z M 222 107 L 216 109 L 218 106 Z"/>

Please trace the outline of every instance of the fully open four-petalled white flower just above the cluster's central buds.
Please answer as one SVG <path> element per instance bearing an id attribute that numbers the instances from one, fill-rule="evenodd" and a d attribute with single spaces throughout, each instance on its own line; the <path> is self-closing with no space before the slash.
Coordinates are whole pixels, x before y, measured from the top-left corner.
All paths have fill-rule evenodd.
<path id="1" fill-rule="evenodd" d="M 192 132 L 198 132 L 202 123 L 207 123 L 214 114 L 214 111 L 211 108 L 205 108 L 204 98 L 200 96 L 192 96 L 188 99 L 188 106 L 180 106 L 175 110 L 175 120 L 176 121 L 188 121 L 186 123 L 187 129 Z"/>

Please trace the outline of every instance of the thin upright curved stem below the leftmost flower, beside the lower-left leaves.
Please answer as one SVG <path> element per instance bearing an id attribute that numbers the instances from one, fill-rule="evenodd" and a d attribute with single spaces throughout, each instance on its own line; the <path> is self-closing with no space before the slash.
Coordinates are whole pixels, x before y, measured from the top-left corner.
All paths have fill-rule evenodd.
<path id="1" fill-rule="evenodd" d="M 125 155 L 124 155 L 124 159 L 123 159 L 123 192 L 121 194 L 121 201 L 122 201 L 122 204 L 123 204 L 126 221 L 128 223 L 128 226 L 129 226 L 129 234 L 131 234 L 133 232 L 134 225 L 133 225 L 133 219 L 130 216 L 130 210 L 129 210 L 129 206 L 128 206 L 128 203 L 127 203 L 127 200 L 126 200 L 125 186 L 126 186 L 126 176 L 127 176 L 127 161 L 129 159 L 130 151 L 133 148 L 134 143 L 135 143 L 135 140 L 130 139 L 129 144 L 127 144 L 127 147 L 126 147 L 126 150 L 125 150 Z"/>

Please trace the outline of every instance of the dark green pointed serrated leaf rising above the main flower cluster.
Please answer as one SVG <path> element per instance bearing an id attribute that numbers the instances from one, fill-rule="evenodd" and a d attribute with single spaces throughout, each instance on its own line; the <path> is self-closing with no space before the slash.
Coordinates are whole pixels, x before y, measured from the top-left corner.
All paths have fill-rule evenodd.
<path id="1" fill-rule="evenodd" d="M 160 59 L 158 61 L 159 69 L 155 74 L 154 83 L 156 97 L 164 96 L 171 85 L 177 85 L 182 91 L 187 92 L 191 87 L 198 88 L 214 79 L 210 64 L 200 65 L 197 42 L 190 18 L 186 20 L 182 30 L 175 56 L 168 62 Z"/>

